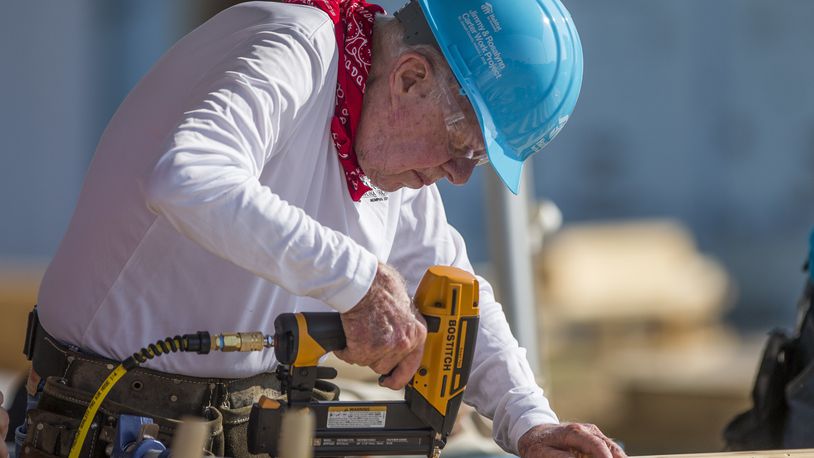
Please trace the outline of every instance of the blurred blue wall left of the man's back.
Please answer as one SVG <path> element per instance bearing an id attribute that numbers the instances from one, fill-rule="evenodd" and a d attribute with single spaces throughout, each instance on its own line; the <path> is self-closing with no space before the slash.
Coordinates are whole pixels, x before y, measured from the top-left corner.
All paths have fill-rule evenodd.
<path id="1" fill-rule="evenodd" d="M 56 251 L 108 119 L 183 35 L 182 3 L 4 2 L 0 259 Z"/>

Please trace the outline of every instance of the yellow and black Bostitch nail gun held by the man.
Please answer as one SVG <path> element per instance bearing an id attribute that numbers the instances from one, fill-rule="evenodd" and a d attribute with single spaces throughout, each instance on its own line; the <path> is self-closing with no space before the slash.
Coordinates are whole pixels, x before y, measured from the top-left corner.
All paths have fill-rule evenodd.
<path id="1" fill-rule="evenodd" d="M 286 401 L 252 407 L 251 453 L 277 455 L 283 415 L 310 409 L 316 417 L 314 456 L 426 455 L 437 457 L 455 423 L 469 379 L 478 330 L 478 281 L 453 267 L 431 267 L 415 303 L 427 322 L 427 341 L 404 401 L 312 401 L 318 380 L 336 376 L 319 367 L 325 354 L 345 347 L 339 314 L 280 315 L 274 352 Z"/>

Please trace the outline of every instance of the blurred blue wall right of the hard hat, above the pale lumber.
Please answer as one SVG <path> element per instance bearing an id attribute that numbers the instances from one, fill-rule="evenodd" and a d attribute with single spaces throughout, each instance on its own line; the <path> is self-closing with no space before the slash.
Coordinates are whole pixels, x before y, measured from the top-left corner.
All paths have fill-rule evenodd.
<path id="1" fill-rule="evenodd" d="M 814 226 L 814 2 L 568 1 L 585 48 L 573 121 L 535 163 L 566 222 L 674 217 L 788 324 Z"/>

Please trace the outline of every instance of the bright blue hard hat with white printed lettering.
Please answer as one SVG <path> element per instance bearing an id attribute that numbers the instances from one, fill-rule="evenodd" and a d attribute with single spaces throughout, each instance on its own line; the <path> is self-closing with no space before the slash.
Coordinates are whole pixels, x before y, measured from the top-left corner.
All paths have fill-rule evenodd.
<path id="1" fill-rule="evenodd" d="M 489 161 L 515 194 L 523 162 L 563 128 L 582 45 L 559 0 L 415 0 L 469 98 Z"/>

